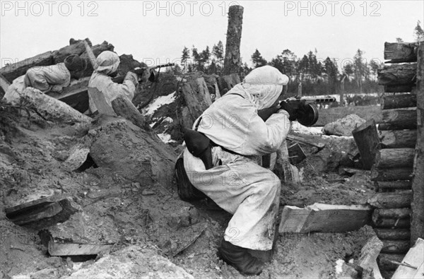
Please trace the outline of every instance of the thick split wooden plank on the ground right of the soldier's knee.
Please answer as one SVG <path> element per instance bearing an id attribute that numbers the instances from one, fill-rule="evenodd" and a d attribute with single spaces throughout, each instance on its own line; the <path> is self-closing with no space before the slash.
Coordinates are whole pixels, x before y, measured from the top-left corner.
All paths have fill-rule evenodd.
<path id="1" fill-rule="evenodd" d="M 339 206 L 314 203 L 306 208 L 284 206 L 278 232 L 348 232 L 371 220 L 368 206 Z"/>

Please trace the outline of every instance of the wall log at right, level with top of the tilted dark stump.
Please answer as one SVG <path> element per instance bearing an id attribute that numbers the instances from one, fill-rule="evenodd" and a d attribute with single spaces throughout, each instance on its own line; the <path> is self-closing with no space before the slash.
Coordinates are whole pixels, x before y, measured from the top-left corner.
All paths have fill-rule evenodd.
<path id="1" fill-rule="evenodd" d="M 382 125 L 386 124 L 386 125 Z M 387 109 L 382 111 L 382 121 L 378 129 L 411 130 L 417 128 L 416 109 Z"/>

